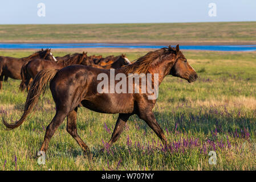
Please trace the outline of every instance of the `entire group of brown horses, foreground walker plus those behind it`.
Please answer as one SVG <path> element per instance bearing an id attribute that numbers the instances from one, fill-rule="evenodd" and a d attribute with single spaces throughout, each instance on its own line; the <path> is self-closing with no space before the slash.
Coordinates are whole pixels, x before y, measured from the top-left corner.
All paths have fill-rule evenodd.
<path id="1" fill-rule="evenodd" d="M 130 63 L 124 55 L 103 58 L 87 56 L 87 53 L 83 52 L 55 58 L 50 51 L 51 49 L 42 49 L 22 59 L 0 57 L 1 81 L 3 76 L 5 80 L 7 80 L 6 77 L 22 79 L 21 90 L 27 88 L 29 92 L 21 119 L 14 123 L 7 123 L 4 118 L 2 119 L 7 130 L 22 125 L 27 115 L 33 111 L 40 95 L 46 91 L 47 83 L 50 82 L 56 113 L 47 126 L 40 151 L 47 151 L 51 137 L 67 117 L 67 132 L 78 142 L 85 154 L 90 154 L 88 146 L 79 137 L 76 127 L 80 106 L 99 113 L 119 114 L 108 147 L 120 137 L 125 123 L 133 114 L 143 119 L 155 131 L 164 146 L 167 146 L 164 132 L 152 111 L 156 99 L 148 99 L 151 93 L 99 93 L 97 84 L 100 81 L 97 80 L 97 75 L 105 73 L 109 76 L 110 68 L 113 68 L 115 75 L 123 73 L 127 76 L 125 79 L 128 79 L 131 73 L 151 73 L 152 75 L 157 73 L 159 84 L 167 75 L 180 77 L 188 82 L 196 81 L 197 73 L 189 65 L 178 45 L 150 51 L 133 63 Z M 8 68 L 9 64 L 12 68 Z M 115 84 L 117 84 L 116 80 Z"/>

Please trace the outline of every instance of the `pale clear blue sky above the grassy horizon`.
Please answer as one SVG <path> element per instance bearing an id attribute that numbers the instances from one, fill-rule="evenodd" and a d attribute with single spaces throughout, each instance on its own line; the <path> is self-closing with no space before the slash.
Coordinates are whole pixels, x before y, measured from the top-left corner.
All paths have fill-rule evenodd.
<path id="1" fill-rule="evenodd" d="M 38 16 L 38 3 L 46 16 Z M 209 3 L 216 3 L 210 17 Z M 8 0 L 0 6 L 0 24 L 172 23 L 256 21 L 255 0 Z"/>

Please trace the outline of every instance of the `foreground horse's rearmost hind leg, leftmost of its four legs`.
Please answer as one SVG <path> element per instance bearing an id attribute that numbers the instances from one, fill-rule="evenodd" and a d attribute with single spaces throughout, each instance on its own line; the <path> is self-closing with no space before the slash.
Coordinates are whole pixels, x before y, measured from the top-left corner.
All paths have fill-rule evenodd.
<path id="1" fill-rule="evenodd" d="M 67 116 L 66 111 L 56 111 L 54 118 L 51 123 L 47 126 L 46 134 L 44 135 L 44 140 L 40 151 L 47 151 L 48 143 L 50 142 L 51 137 L 54 135 L 56 129 L 60 126 L 60 124 L 64 121 L 64 118 Z"/>

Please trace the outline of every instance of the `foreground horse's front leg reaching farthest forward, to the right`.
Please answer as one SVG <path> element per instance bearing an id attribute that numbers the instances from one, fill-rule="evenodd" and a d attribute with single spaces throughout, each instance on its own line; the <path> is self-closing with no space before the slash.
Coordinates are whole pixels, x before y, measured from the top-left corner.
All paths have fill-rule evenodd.
<path id="1" fill-rule="evenodd" d="M 144 110 L 143 112 L 137 115 L 139 116 L 140 119 L 143 119 L 148 124 L 148 126 L 151 127 L 153 131 L 155 131 L 157 137 L 161 139 L 162 143 L 166 147 L 167 140 L 165 138 L 164 131 L 162 131 L 159 123 L 157 123 L 155 115 L 153 114 L 152 110 Z"/>

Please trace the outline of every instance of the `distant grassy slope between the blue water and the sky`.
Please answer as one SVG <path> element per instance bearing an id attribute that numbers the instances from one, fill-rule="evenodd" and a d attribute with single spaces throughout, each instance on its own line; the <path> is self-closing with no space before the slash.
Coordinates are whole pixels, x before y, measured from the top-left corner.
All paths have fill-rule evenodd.
<path id="1" fill-rule="evenodd" d="M 0 25 L 0 42 L 256 44 L 256 22 Z"/>

